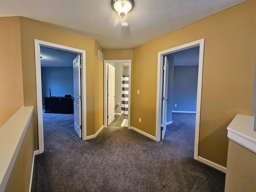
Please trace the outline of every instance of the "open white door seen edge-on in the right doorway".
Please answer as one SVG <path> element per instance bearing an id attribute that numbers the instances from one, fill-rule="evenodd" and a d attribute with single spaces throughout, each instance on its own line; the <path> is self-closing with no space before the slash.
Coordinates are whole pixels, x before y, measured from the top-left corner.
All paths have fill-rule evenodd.
<path id="1" fill-rule="evenodd" d="M 164 56 L 164 82 L 163 82 L 163 110 L 162 110 L 162 133 L 161 133 L 161 139 L 164 139 L 164 135 L 166 132 L 166 119 L 167 119 L 167 96 L 168 96 L 168 68 L 169 68 L 169 62 L 167 59 L 167 56 Z"/>

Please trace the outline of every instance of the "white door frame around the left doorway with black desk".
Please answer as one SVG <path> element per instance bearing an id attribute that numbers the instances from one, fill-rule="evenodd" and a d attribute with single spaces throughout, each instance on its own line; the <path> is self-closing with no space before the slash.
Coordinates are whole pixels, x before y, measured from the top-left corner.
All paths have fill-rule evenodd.
<path id="1" fill-rule="evenodd" d="M 80 50 L 68 46 L 54 44 L 46 41 L 34 39 L 35 62 L 36 62 L 36 98 L 37 98 L 37 119 L 38 119 L 38 143 L 39 154 L 44 152 L 44 128 L 43 128 L 43 106 L 42 106 L 42 77 L 41 77 L 41 60 L 40 46 L 62 49 L 70 52 L 81 54 L 82 58 L 82 139 L 86 140 L 86 62 L 85 50 Z"/>

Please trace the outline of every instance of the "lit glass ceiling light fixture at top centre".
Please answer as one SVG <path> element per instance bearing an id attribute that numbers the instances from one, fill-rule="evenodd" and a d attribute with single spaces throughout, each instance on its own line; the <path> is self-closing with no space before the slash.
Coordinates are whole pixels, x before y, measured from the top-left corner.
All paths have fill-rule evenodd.
<path id="1" fill-rule="evenodd" d="M 134 0 L 111 0 L 111 5 L 124 18 L 134 7 Z"/>

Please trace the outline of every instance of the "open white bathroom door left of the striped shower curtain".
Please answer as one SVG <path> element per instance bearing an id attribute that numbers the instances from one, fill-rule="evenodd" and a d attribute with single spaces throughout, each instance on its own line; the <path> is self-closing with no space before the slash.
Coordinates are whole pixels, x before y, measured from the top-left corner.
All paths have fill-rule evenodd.
<path id="1" fill-rule="evenodd" d="M 115 67 L 108 64 L 108 126 L 115 119 Z"/>

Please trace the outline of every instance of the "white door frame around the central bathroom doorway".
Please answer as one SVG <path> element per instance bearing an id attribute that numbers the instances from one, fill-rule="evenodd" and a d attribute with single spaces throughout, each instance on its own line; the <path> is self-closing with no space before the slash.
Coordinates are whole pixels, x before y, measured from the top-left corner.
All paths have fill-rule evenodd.
<path id="1" fill-rule="evenodd" d="M 128 95 L 128 129 L 130 129 L 130 117 L 131 117 L 131 69 L 132 69 L 132 60 L 104 60 L 104 127 L 108 126 L 108 97 L 107 97 L 107 88 L 108 88 L 108 64 L 109 63 L 129 63 L 129 95 Z"/>

